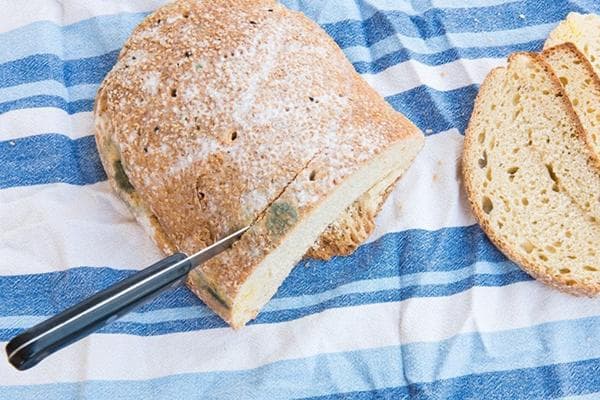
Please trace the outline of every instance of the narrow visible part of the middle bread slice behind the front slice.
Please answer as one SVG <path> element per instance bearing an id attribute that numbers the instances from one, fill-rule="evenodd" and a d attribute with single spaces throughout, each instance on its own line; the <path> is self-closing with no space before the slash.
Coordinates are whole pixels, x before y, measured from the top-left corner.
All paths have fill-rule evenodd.
<path id="1" fill-rule="evenodd" d="M 550 47 L 542 53 L 558 76 L 581 124 L 582 139 L 600 170 L 600 79 L 573 43 Z"/>

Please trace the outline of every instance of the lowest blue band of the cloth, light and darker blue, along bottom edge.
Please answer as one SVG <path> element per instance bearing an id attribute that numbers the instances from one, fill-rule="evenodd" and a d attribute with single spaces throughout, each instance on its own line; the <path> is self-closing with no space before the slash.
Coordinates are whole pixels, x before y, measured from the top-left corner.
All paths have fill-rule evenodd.
<path id="1" fill-rule="evenodd" d="M 600 387 L 599 322 L 599 317 L 590 317 L 466 333 L 439 342 L 320 354 L 239 371 L 3 387 L 0 395 L 37 398 L 43 394 L 46 400 L 82 393 L 98 400 L 133 394 L 188 399 L 216 393 L 231 399 L 315 395 L 325 395 L 320 399 L 500 399 L 527 393 L 527 398 L 554 398 Z M 544 348 L 560 351 L 546 358 L 540 356 Z"/>

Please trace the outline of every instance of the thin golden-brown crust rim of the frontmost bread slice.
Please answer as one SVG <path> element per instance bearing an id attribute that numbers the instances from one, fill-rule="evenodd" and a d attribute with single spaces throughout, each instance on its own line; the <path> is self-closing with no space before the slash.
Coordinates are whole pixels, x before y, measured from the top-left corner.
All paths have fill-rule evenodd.
<path id="1" fill-rule="evenodd" d="M 560 81 L 553 74 L 552 69 L 543 60 L 542 56 L 539 54 L 536 54 L 536 53 L 526 53 L 526 52 L 514 53 L 513 55 L 511 55 L 509 57 L 508 62 L 510 63 L 513 58 L 518 57 L 519 55 L 525 55 L 527 57 L 534 59 L 536 62 L 539 62 L 539 64 L 542 66 L 542 68 L 548 73 L 548 75 L 552 81 L 552 85 L 555 87 L 555 89 L 558 92 L 563 93 L 562 102 L 564 104 L 566 113 L 568 115 L 570 115 L 570 118 L 572 118 L 574 124 L 578 125 L 577 129 L 579 132 L 581 132 L 583 130 L 583 128 L 581 127 L 581 123 L 579 122 L 579 119 L 577 118 L 575 111 L 572 108 L 572 105 L 568 101 L 567 96 L 564 93 L 564 90 L 562 88 L 562 85 L 560 84 Z M 509 259 L 511 259 L 512 261 L 517 263 L 529 275 L 531 275 L 535 279 L 537 279 L 549 286 L 552 286 L 562 292 L 565 292 L 565 293 L 580 295 L 580 296 L 590 296 L 590 297 L 597 296 L 600 294 L 600 283 L 583 283 L 580 281 L 574 281 L 573 279 L 569 279 L 568 277 L 564 277 L 564 276 L 560 276 L 560 275 L 558 275 L 558 276 L 557 275 L 549 275 L 544 271 L 544 269 L 541 265 L 529 261 L 525 257 L 522 257 L 520 254 L 518 254 L 516 251 L 514 251 L 513 247 L 510 244 L 506 243 L 499 235 L 496 234 L 495 230 L 490 225 L 489 219 L 486 218 L 485 213 L 483 212 L 483 210 L 481 209 L 481 207 L 479 205 L 479 202 L 477 201 L 477 194 L 476 194 L 477 189 L 472 187 L 472 184 L 473 184 L 472 176 L 474 175 L 473 168 L 472 168 L 473 163 L 468 158 L 468 154 L 472 153 L 472 149 L 475 146 L 475 144 L 474 144 L 475 133 L 472 132 L 472 122 L 471 121 L 473 120 L 475 115 L 484 112 L 483 107 L 481 106 L 481 102 L 483 101 L 482 99 L 487 95 L 487 92 L 489 90 L 491 90 L 491 88 L 489 86 L 490 86 L 490 82 L 492 82 L 494 80 L 494 75 L 497 73 L 502 73 L 504 71 L 506 71 L 506 68 L 504 68 L 504 67 L 498 67 L 498 68 L 493 69 L 488 74 L 488 76 L 486 77 L 484 82 L 481 84 L 479 93 L 475 100 L 475 105 L 473 107 L 473 113 L 471 115 L 469 124 L 465 131 L 463 162 L 462 162 L 462 175 L 463 175 L 463 183 L 464 183 L 464 187 L 465 187 L 465 192 L 467 194 L 467 199 L 468 199 L 471 211 L 473 212 L 475 219 L 481 226 L 481 229 L 485 232 L 485 234 L 492 241 L 492 243 L 494 243 L 494 245 L 496 245 L 496 247 L 498 247 L 498 249 L 500 251 L 502 251 L 502 253 L 504 253 Z"/>

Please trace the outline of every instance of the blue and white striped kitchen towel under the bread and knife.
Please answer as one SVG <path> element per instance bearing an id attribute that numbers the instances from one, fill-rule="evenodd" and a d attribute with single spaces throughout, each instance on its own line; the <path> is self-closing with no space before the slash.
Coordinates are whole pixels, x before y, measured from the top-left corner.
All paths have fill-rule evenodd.
<path id="1" fill-rule="evenodd" d="M 111 192 L 99 83 L 162 0 L 0 1 L 0 341 L 161 255 Z M 459 177 L 478 85 L 596 0 L 285 0 L 426 133 L 375 233 L 305 261 L 233 331 L 185 288 L 26 371 L 0 399 L 600 398 L 600 301 L 533 281 Z"/>

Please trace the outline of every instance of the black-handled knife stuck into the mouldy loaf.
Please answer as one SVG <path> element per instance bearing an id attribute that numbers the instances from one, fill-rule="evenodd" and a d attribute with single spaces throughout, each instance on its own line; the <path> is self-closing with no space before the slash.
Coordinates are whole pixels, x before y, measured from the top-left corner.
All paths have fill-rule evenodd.
<path id="1" fill-rule="evenodd" d="M 242 228 L 191 256 L 184 253 L 170 255 L 27 329 L 6 345 L 8 361 L 18 370 L 33 367 L 163 290 L 178 285 L 191 269 L 227 250 L 248 228 Z"/>

